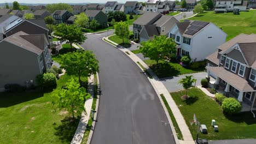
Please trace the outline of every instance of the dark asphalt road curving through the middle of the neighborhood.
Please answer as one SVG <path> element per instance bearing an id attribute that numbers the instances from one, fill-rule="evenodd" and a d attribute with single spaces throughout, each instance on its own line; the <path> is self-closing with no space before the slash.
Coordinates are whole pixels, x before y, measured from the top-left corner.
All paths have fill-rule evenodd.
<path id="1" fill-rule="evenodd" d="M 87 34 L 82 44 L 100 61 L 101 99 L 91 143 L 175 143 L 147 77 L 125 53 L 102 40 L 106 35 Z"/>

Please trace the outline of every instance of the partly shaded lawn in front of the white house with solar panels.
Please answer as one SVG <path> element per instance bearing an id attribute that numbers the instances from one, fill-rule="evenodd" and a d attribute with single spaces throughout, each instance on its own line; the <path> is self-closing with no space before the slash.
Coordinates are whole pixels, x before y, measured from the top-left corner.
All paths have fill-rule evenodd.
<path id="1" fill-rule="evenodd" d="M 154 60 L 146 59 L 144 60 L 144 62 L 147 65 L 149 65 L 149 67 L 154 71 L 154 73 L 159 78 L 177 76 L 182 74 L 197 73 L 205 70 L 205 68 L 199 68 L 199 69 L 185 68 L 185 67 L 182 67 L 182 65 L 179 63 L 175 63 L 175 62 L 166 63 L 164 61 L 159 61 L 159 68 L 157 68 L 156 62 Z"/>

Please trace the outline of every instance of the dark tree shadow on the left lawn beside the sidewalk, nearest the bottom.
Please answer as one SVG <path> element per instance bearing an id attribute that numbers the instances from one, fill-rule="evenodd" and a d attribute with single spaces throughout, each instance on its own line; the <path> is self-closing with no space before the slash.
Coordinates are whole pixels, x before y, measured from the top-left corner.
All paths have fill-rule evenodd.
<path id="1" fill-rule="evenodd" d="M 80 117 L 75 117 L 73 120 L 72 117 L 65 117 L 61 120 L 60 125 L 54 125 L 54 129 L 56 130 L 54 135 L 59 136 L 61 142 L 70 143 L 73 139 L 75 131 L 77 130 L 77 126 L 79 124 Z"/>

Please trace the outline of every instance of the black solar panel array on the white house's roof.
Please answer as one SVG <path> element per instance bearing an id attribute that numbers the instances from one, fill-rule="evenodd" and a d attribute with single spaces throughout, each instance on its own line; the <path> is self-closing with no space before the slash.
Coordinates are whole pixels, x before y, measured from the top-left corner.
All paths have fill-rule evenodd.
<path id="1" fill-rule="evenodd" d="M 188 30 L 185 32 L 185 34 L 194 35 L 198 31 L 200 31 L 200 29 L 207 26 L 208 24 L 209 22 L 193 21 L 190 23 L 190 26 L 188 27 Z"/>

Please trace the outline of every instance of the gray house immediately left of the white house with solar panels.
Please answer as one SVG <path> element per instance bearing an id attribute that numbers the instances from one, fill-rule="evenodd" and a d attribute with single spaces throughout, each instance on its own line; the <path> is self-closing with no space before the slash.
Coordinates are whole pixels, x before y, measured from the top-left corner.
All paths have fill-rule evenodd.
<path id="1" fill-rule="evenodd" d="M 174 16 L 162 15 L 152 25 L 145 25 L 139 33 L 140 41 L 147 41 L 153 39 L 154 35 L 168 35 L 170 29 L 179 22 Z"/>

